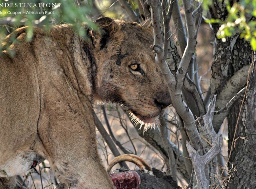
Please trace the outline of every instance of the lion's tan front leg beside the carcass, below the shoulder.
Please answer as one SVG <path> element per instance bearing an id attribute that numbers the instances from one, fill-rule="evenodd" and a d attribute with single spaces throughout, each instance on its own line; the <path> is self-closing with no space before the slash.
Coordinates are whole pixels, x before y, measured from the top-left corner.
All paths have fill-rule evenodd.
<path id="1" fill-rule="evenodd" d="M 92 110 L 58 103 L 44 104 L 38 130 L 56 177 L 67 188 L 114 188 L 98 156 Z"/>

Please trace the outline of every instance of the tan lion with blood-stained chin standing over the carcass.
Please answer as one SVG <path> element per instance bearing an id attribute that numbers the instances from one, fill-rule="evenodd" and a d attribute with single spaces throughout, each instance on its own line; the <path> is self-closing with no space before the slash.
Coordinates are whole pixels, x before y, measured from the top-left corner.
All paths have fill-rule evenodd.
<path id="1" fill-rule="evenodd" d="M 110 18 L 96 24 L 99 31 L 84 26 L 86 37 L 71 25 L 57 25 L 48 32 L 34 28 L 31 41 L 26 40 L 26 27 L 5 38 L 0 57 L 0 188 L 12 188 L 12 176 L 44 159 L 66 188 L 114 188 L 98 156 L 92 104 L 122 104 L 145 123 L 170 104 L 149 48 L 152 29 Z"/>

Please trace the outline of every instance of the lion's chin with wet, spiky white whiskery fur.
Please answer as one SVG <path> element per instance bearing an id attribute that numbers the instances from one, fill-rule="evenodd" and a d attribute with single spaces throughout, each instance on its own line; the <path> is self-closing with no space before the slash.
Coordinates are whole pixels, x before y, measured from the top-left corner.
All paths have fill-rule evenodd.
<path id="1" fill-rule="evenodd" d="M 147 129 L 155 129 L 155 126 L 159 124 L 159 115 L 144 116 L 130 110 L 130 116 L 131 121 L 135 124 L 135 126 L 139 125 L 139 130 L 143 126 L 143 134 Z"/>

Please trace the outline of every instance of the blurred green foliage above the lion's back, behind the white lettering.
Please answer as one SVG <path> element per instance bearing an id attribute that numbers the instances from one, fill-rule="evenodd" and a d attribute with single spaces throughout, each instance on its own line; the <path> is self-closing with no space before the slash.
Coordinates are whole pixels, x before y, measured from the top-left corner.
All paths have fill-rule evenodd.
<path id="1" fill-rule="evenodd" d="M 45 26 L 49 29 L 52 24 L 70 23 L 76 32 L 84 35 L 81 24 L 86 22 L 89 26 L 94 24 L 87 15 L 90 7 L 76 3 L 74 0 L 0 0 L 1 36 L 5 36 L 8 29 L 28 26 L 27 39 L 33 36 L 32 26 Z"/>

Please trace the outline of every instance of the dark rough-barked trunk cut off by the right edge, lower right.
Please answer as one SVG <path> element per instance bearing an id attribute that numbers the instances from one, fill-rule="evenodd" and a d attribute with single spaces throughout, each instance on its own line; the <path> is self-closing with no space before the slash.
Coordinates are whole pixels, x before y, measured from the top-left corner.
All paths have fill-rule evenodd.
<path id="1" fill-rule="evenodd" d="M 251 74 L 246 97 L 246 124 L 243 148 L 234 158 L 234 167 L 229 173 L 228 187 L 256 188 L 256 67 Z"/>

